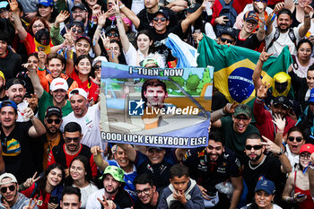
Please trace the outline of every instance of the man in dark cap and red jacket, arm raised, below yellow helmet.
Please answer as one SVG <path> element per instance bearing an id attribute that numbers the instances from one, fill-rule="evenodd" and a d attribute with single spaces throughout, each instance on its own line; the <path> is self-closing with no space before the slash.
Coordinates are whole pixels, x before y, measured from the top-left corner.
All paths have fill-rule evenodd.
<path id="1" fill-rule="evenodd" d="M 257 98 L 254 102 L 254 118 L 257 122 L 256 126 L 261 133 L 261 135 L 265 135 L 271 141 L 275 141 L 275 135 L 286 135 L 289 129 L 292 126 L 295 126 L 296 121 L 294 121 L 289 115 L 289 111 L 291 110 L 291 101 L 284 97 L 278 96 L 275 97 L 271 102 L 270 109 L 271 111 L 264 108 L 264 100 L 267 97 L 267 90 L 269 86 L 266 86 L 266 83 L 263 83 L 260 88 L 257 90 Z M 282 118 L 285 122 L 283 127 L 277 126 L 274 122 L 276 118 Z M 280 138 L 280 140 L 282 137 Z M 279 141 L 276 144 L 281 144 Z"/>

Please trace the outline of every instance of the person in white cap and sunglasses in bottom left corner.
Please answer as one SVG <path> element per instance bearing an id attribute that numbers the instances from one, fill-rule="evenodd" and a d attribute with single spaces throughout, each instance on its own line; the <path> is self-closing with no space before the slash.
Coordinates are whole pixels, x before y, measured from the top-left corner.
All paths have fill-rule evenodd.
<path id="1" fill-rule="evenodd" d="M 0 194 L 1 194 L 1 209 L 38 209 L 36 201 L 22 195 L 19 192 L 19 184 L 12 173 L 4 173 L 0 176 Z"/>

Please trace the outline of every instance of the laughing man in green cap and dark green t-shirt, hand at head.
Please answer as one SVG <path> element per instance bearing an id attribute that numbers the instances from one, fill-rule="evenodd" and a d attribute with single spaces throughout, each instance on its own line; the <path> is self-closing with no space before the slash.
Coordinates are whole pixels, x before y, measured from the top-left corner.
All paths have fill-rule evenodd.
<path id="1" fill-rule="evenodd" d="M 222 117 L 225 114 L 232 114 L 232 116 Z M 250 124 L 251 120 L 252 111 L 249 106 L 237 105 L 235 102 L 228 103 L 211 114 L 212 126 L 221 129 L 226 147 L 235 152 L 241 162 L 245 159 L 243 151 L 248 135 L 259 133 L 258 129 Z"/>

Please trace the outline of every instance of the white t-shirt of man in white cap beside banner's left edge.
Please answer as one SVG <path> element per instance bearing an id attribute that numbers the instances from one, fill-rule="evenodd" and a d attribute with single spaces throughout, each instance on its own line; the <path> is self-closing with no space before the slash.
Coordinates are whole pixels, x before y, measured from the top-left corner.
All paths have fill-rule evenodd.
<path id="1" fill-rule="evenodd" d="M 82 144 L 89 147 L 100 146 L 105 150 L 105 143 L 102 144 L 100 137 L 100 109 L 99 105 L 95 104 L 89 107 L 86 114 L 82 118 L 76 118 L 74 112 L 63 118 L 63 123 L 60 130 L 64 132 L 65 125 L 69 122 L 76 122 L 82 127 L 83 139 Z"/>

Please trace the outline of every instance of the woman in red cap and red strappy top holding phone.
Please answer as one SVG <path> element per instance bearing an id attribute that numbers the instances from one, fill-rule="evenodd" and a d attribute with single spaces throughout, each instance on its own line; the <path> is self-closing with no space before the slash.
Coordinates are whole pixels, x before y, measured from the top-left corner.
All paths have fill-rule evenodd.
<path id="1" fill-rule="evenodd" d="M 314 208 L 314 202 L 310 196 L 310 179 L 307 167 L 310 164 L 310 155 L 314 152 L 313 144 L 303 144 L 300 150 L 300 169 L 289 175 L 283 190 L 283 201 L 289 204 L 297 204 L 300 209 Z M 294 191 L 293 196 L 292 190 Z"/>

